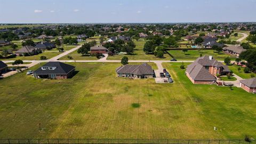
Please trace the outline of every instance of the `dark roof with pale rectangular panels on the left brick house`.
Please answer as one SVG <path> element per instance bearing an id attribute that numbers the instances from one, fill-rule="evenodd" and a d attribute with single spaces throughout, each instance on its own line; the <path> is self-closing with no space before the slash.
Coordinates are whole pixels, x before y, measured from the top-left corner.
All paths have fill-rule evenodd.
<path id="1" fill-rule="evenodd" d="M 56 67 L 54 70 L 43 70 L 42 67 Z M 62 63 L 59 61 L 51 61 L 47 62 L 44 66 L 38 68 L 34 71 L 35 74 L 68 74 L 71 70 L 75 69 L 76 67 L 68 65 L 66 63 Z"/>

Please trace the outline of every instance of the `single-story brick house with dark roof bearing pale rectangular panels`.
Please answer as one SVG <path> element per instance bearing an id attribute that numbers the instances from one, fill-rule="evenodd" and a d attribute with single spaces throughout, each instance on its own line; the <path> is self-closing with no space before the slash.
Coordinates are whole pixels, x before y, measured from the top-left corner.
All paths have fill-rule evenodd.
<path id="1" fill-rule="evenodd" d="M 51 61 L 35 70 L 33 75 L 35 78 L 66 79 L 73 76 L 75 68 L 66 63 Z"/>

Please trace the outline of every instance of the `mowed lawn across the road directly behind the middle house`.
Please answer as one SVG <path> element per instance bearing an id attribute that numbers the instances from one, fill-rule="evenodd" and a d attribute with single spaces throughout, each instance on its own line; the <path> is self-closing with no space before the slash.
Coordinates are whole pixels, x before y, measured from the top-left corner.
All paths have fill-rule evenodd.
<path id="1" fill-rule="evenodd" d="M 108 60 L 121 60 L 124 56 L 128 57 L 129 60 L 170 60 L 171 57 L 169 54 L 165 53 L 163 58 L 157 58 L 154 54 L 145 54 L 143 51 L 144 44 L 146 41 L 140 39 L 140 41 L 133 41 L 136 45 L 133 54 L 122 54 L 109 56 Z"/>

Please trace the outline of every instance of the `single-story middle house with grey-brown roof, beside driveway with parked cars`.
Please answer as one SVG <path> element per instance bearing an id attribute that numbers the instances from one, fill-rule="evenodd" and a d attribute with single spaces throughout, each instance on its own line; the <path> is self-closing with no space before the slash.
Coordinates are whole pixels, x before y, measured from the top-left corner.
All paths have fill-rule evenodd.
<path id="1" fill-rule="evenodd" d="M 116 69 L 118 77 L 151 78 L 154 71 L 148 63 L 141 65 L 124 65 Z"/>

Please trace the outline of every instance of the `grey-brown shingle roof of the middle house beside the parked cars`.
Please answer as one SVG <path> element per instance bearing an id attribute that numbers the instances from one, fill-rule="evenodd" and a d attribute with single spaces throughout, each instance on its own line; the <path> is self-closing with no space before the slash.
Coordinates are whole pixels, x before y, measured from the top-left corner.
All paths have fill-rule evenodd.
<path id="1" fill-rule="evenodd" d="M 141 65 L 125 65 L 118 67 L 116 73 L 122 74 L 134 74 L 134 75 L 153 75 L 153 69 L 148 63 L 143 63 Z"/>

